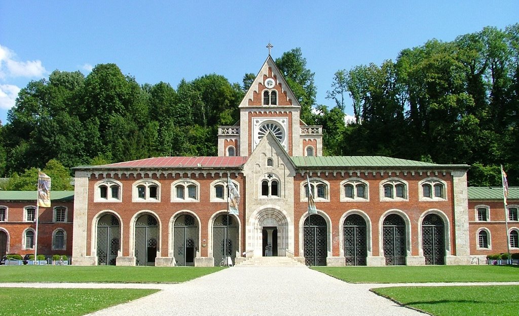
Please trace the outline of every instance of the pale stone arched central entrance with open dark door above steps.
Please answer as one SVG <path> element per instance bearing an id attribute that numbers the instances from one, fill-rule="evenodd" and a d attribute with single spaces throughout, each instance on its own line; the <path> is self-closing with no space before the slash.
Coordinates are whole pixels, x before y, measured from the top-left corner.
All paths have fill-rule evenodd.
<path id="1" fill-rule="evenodd" d="M 276 209 L 257 212 L 253 218 L 254 256 L 286 256 L 289 249 L 289 224 L 285 214 Z"/>

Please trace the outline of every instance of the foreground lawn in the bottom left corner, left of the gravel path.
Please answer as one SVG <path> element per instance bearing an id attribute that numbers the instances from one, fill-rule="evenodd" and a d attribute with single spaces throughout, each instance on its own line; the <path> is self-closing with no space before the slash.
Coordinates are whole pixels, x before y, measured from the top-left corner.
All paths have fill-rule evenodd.
<path id="1" fill-rule="evenodd" d="M 4 269 L 2 269 L 3 271 Z M 0 316 L 85 315 L 159 290 L 143 289 L 0 289 Z"/>

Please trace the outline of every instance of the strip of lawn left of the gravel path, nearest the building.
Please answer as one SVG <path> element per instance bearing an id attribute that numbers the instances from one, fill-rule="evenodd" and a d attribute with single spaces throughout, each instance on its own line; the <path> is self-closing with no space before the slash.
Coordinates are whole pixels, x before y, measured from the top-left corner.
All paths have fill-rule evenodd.
<path id="1" fill-rule="evenodd" d="M 179 283 L 220 271 L 221 269 L 224 268 L 0 266 L 0 282 Z"/>

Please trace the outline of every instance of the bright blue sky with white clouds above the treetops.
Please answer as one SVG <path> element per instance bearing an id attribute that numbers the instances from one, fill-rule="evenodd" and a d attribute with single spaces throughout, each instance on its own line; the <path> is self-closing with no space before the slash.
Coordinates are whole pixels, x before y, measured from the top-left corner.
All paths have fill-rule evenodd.
<path id="1" fill-rule="evenodd" d="M 137 82 L 176 88 L 216 73 L 239 82 L 300 47 L 318 104 L 338 69 L 380 64 L 436 38 L 519 22 L 519 1 L 5 1 L 0 0 L 0 120 L 19 89 L 55 69 L 115 63 Z M 351 108 L 347 108 L 351 114 Z"/>

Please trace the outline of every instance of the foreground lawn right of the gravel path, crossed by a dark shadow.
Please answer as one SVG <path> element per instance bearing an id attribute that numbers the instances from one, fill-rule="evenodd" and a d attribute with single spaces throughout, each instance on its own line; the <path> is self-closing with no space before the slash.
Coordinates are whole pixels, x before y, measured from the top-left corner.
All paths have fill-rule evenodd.
<path id="1" fill-rule="evenodd" d="M 435 316 L 517 316 L 519 285 L 411 286 L 373 292 Z"/>

